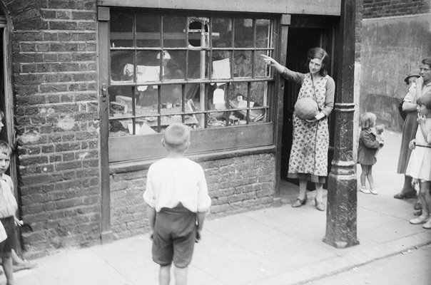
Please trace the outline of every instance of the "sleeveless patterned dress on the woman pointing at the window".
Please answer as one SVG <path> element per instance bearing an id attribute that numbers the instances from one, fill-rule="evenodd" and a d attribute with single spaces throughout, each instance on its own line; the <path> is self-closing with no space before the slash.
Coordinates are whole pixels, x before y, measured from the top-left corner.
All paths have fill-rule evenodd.
<path id="1" fill-rule="evenodd" d="M 314 83 L 310 73 L 303 77 L 298 94 L 300 98 L 313 98 L 322 110 L 326 100 L 326 83 L 330 76 L 324 76 Z M 325 182 L 328 175 L 329 130 L 328 118 L 308 123 L 294 116 L 293 143 L 290 151 L 289 178 L 303 178 L 311 182 Z"/>

